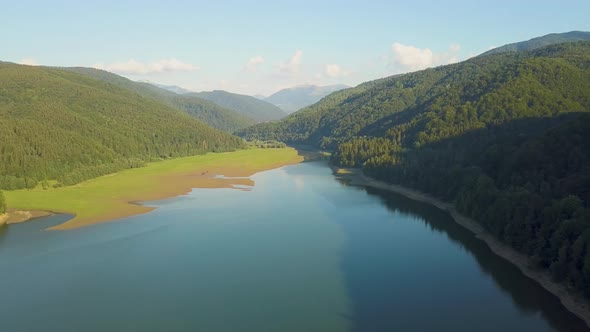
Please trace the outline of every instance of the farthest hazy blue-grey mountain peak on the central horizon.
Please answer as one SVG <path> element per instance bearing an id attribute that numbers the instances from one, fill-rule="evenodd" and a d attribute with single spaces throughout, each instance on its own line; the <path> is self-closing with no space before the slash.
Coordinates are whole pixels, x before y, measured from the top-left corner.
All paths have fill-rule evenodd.
<path id="1" fill-rule="evenodd" d="M 302 85 L 275 92 L 264 100 L 290 114 L 305 106 L 317 103 L 334 91 L 346 88 L 349 88 L 349 86 L 343 84 L 328 86 Z"/>

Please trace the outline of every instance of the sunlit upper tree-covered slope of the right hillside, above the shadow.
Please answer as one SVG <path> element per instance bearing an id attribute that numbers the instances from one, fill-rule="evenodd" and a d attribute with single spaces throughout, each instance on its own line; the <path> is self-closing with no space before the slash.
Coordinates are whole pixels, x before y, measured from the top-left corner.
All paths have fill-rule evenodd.
<path id="1" fill-rule="evenodd" d="M 584 111 L 589 50 L 590 42 L 560 44 L 392 76 L 238 134 L 332 150 L 359 136 L 417 147 L 488 124 Z"/>

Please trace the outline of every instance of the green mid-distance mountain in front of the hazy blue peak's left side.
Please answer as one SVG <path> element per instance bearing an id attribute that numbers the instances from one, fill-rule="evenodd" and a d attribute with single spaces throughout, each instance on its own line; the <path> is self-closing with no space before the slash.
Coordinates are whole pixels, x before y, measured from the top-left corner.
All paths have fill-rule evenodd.
<path id="1" fill-rule="evenodd" d="M 251 96 L 221 90 L 192 93 L 190 95 L 212 101 L 256 122 L 273 121 L 287 116 L 287 113 L 277 106 Z"/>

